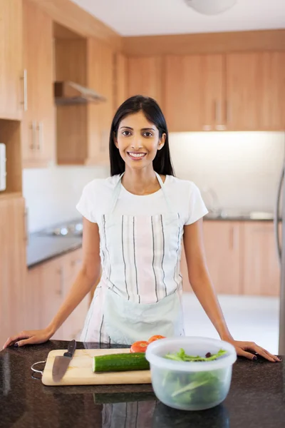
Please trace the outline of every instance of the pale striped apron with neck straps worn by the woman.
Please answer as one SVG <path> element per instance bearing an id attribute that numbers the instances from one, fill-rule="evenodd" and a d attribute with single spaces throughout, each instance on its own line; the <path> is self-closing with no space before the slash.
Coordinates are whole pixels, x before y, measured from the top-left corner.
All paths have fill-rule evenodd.
<path id="1" fill-rule="evenodd" d="M 102 277 L 81 334 L 82 342 L 131 345 L 152 335 L 184 335 L 180 256 L 183 226 L 172 211 L 115 215 L 120 175 L 109 211 L 98 223 Z"/>

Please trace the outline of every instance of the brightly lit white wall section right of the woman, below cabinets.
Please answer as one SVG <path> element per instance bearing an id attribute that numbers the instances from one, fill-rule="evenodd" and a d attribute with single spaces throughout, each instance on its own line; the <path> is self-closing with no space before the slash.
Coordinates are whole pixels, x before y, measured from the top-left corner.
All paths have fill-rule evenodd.
<path id="1" fill-rule="evenodd" d="M 214 189 L 228 213 L 273 211 L 284 144 L 281 132 L 170 135 L 176 175 L 194 181 L 208 206 L 212 198 L 206 189 Z"/>

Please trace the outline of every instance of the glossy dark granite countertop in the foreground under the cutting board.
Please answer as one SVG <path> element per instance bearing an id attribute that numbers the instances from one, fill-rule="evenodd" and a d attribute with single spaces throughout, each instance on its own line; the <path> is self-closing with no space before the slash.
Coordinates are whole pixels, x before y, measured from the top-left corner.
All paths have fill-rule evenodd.
<path id="1" fill-rule="evenodd" d="M 182 412 L 159 402 L 151 385 L 46 387 L 31 377 L 34 362 L 45 360 L 51 350 L 66 347 L 67 342 L 50 341 L 0 352 L 0 427 L 284 427 L 283 362 L 239 358 L 222 404 L 200 412 Z M 78 342 L 78 349 L 82 348 L 83 343 Z"/>

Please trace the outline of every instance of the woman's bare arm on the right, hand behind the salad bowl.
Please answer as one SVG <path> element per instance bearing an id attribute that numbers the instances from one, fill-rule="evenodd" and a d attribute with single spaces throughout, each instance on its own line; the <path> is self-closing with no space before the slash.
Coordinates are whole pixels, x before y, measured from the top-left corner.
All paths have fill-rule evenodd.
<path id="1" fill-rule="evenodd" d="M 211 320 L 219 333 L 219 337 L 226 342 L 232 343 L 237 350 L 237 355 L 254 360 L 256 358 L 255 355 L 247 352 L 252 350 L 269 361 L 279 361 L 275 355 L 271 355 L 270 352 L 259 347 L 254 342 L 239 342 L 234 340 L 230 334 L 207 269 L 202 238 L 202 220 L 184 227 L 184 248 L 190 284 L 209 320 Z"/>

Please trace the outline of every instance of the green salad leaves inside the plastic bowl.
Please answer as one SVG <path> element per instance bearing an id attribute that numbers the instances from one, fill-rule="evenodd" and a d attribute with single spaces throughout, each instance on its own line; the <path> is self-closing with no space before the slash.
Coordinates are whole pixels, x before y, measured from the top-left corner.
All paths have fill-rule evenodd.
<path id="1" fill-rule="evenodd" d="M 181 349 L 175 354 L 168 353 L 165 358 L 175 361 L 199 362 L 217 360 L 227 351 L 219 350 L 217 354 L 208 353 L 205 357 L 199 355 L 187 355 Z M 161 376 L 161 372 L 160 372 Z M 213 370 L 206 372 L 180 372 L 163 370 L 162 388 L 165 401 L 179 406 L 211 405 L 213 402 L 221 402 L 224 399 L 224 387 L 227 384 L 227 370 Z"/>

